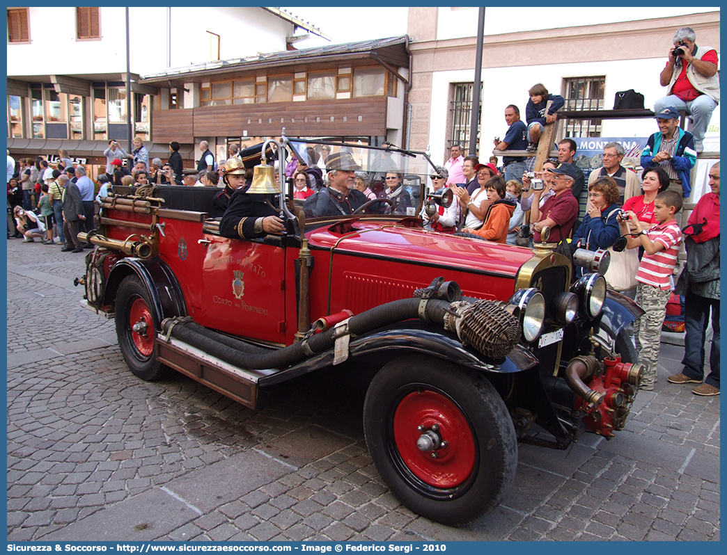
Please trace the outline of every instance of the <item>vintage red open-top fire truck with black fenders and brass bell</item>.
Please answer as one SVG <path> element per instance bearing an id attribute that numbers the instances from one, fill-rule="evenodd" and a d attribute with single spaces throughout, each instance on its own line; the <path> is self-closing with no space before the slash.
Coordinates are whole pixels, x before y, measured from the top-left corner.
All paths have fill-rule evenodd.
<path id="1" fill-rule="evenodd" d="M 288 191 L 286 232 L 233 240 L 207 217 L 213 187 L 114 187 L 99 229 L 80 235 L 96 248 L 79 281 L 84 304 L 115 319 L 136 376 L 171 368 L 254 409 L 275 384 L 355 369 L 382 479 L 412 511 L 452 525 L 502 501 L 518 442 L 564 449 L 624 427 L 642 372 L 624 333 L 638 306 L 598 272 L 571 283 L 552 245 L 424 229 L 423 207 L 442 202 L 427 189 L 427 155 L 329 144 L 374 187 L 380 162 L 394 163 L 409 212 L 373 202 L 306 218 Z"/>

